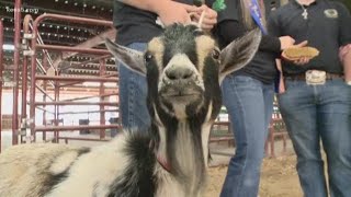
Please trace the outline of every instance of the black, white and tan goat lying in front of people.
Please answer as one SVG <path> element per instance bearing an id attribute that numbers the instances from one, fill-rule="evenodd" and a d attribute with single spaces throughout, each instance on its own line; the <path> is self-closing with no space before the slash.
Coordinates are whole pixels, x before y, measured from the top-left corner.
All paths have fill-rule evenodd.
<path id="1" fill-rule="evenodd" d="M 92 149 L 9 148 L 0 155 L 0 196 L 201 197 L 219 83 L 251 60 L 260 39 L 252 31 L 219 51 L 196 26 L 174 24 L 146 53 L 106 40 L 117 60 L 146 76 L 150 128 Z"/>

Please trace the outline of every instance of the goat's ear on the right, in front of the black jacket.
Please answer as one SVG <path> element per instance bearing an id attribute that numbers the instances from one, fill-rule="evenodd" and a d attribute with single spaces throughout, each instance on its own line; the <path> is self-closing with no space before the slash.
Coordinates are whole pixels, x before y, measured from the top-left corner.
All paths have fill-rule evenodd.
<path id="1" fill-rule="evenodd" d="M 220 51 L 219 82 L 251 61 L 261 43 L 261 31 L 253 30 L 242 37 L 233 40 Z"/>

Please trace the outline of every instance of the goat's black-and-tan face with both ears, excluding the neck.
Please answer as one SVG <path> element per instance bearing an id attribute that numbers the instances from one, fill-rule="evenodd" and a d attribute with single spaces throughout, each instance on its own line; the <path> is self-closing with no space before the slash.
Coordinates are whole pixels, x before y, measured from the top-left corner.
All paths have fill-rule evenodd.
<path id="1" fill-rule="evenodd" d="M 213 119 L 220 108 L 219 83 L 251 60 L 260 38 L 253 31 L 220 51 L 196 26 L 174 24 L 151 39 L 144 54 L 110 40 L 106 46 L 117 60 L 146 74 L 150 111 L 156 106 L 159 115 L 185 119 L 207 112 L 212 104 Z"/>

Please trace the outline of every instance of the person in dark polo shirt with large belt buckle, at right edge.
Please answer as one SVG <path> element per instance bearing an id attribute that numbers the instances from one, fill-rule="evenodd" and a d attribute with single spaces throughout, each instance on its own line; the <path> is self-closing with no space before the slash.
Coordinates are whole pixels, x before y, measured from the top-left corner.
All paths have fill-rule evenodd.
<path id="1" fill-rule="evenodd" d="M 279 107 L 297 154 L 304 196 L 350 196 L 350 12 L 337 1 L 292 0 L 271 14 L 269 24 L 272 35 L 307 39 L 319 51 L 313 59 L 309 51 L 295 51 L 306 56 L 304 62 L 282 58 L 285 92 L 279 94 Z"/>

